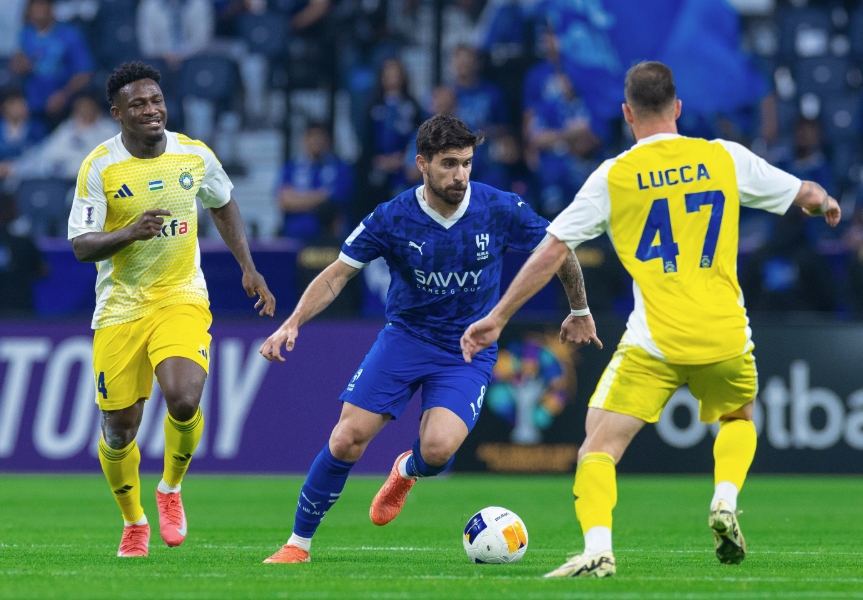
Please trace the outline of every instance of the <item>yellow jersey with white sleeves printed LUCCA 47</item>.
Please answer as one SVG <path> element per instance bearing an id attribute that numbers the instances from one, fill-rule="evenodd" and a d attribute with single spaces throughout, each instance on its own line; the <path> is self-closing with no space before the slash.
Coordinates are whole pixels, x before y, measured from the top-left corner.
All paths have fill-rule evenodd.
<path id="1" fill-rule="evenodd" d="M 548 232 L 572 249 L 608 233 L 633 278 L 621 343 L 709 364 L 752 349 L 737 282 L 740 206 L 783 214 L 800 186 L 740 144 L 657 134 L 600 165 Z"/>

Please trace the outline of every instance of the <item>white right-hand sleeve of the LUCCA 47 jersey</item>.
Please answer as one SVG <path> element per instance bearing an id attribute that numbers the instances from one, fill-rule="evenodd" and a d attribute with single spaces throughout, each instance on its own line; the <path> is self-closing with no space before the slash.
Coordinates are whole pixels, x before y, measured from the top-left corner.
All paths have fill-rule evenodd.
<path id="1" fill-rule="evenodd" d="M 740 205 L 785 214 L 803 182 L 736 142 L 717 141 L 734 161 Z"/>

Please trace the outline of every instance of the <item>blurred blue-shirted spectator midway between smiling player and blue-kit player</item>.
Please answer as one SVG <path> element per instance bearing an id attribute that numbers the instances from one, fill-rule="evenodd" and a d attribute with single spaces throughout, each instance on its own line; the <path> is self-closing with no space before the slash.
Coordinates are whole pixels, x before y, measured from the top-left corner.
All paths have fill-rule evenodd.
<path id="1" fill-rule="evenodd" d="M 318 211 L 323 204 L 337 205 L 347 214 L 353 173 L 330 151 L 330 134 L 322 125 L 306 129 L 303 150 L 303 156 L 285 163 L 278 204 L 285 213 L 282 235 L 309 240 L 321 235 Z"/>

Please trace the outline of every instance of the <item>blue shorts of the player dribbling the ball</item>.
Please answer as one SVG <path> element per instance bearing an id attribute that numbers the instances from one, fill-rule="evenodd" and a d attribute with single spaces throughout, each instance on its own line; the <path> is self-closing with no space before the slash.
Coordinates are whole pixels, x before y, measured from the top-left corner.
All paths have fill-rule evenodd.
<path id="1" fill-rule="evenodd" d="M 339 400 L 397 419 L 422 386 L 423 412 L 435 406 L 448 408 L 470 431 L 482 409 L 492 367 L 493 360 L 480 357 L 466 363 L 460 354 L 387 324 Z"/>

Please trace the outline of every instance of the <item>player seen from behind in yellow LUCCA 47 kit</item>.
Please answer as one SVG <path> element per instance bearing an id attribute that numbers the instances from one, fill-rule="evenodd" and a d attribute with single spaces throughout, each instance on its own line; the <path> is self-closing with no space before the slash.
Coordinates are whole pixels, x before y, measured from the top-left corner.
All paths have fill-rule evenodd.
<path id="1" fill-rule="evenodd" d="M 655 423 L 684 384 L 699 418 L 720 421 L 713 449 L 709 525 L 721 563 L 746 547 L 735 510 L 755 455 L 758 391 L 749 321 L 737 282 L 741 206 L 782 214 L 792 204 L 831 226 L 839 206 L 743 146 L 681 137 L 671 69 L 645 62 L 626 75 L 623 114 L 637 143 L 605 161 L 548 227 L 550 241 L 525 263 L 500 303 L 462 337 L 466 360 L 500 335 L 515 311 L 578 244 L 607 233 L 634 280 L 635 310 L 588 405 L 587 438 L 575 474 L 575 512 L 584 552 L 547 577 L 615 573 L 611 512 L 615 465 L 645 423 Z"/>

